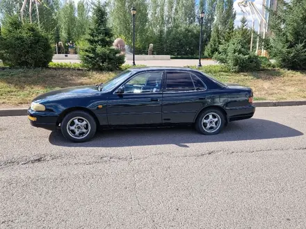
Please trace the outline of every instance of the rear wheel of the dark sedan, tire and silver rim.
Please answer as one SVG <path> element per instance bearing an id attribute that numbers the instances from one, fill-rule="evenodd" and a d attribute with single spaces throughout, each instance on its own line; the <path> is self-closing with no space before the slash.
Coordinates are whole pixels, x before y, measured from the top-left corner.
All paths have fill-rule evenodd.
<path id="1" fill-rule="evenodd" d="M 216 108 L 204 110 L 195 121 L 195 129 L 203 135 L 217 135 L 225 126 L 225 115 Z"/>

